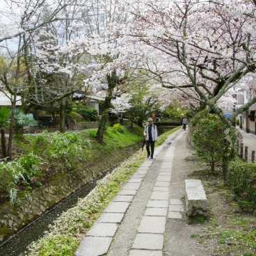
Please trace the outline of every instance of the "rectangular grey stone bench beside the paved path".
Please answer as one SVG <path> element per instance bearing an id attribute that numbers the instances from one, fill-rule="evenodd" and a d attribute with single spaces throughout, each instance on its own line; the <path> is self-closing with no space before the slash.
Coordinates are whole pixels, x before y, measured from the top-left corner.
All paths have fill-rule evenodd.
<path id="1" fill-rule="evenodd" d="M 185 179 L 186 216 L 209 216 L 209 206 L 200 179 Z"/>

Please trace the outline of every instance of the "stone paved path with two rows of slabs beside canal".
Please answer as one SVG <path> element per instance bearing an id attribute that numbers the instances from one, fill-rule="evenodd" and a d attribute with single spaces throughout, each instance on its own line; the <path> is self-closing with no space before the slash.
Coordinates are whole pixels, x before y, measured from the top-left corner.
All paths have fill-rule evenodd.
<path id="1" fill-rule="evenodd" d="M 170 196 L 175 152 L 171 134 L 145 159 L 82 239 L 77 256 L 162 256 L 168 218 L 182 218 L 184 206 Z"/>

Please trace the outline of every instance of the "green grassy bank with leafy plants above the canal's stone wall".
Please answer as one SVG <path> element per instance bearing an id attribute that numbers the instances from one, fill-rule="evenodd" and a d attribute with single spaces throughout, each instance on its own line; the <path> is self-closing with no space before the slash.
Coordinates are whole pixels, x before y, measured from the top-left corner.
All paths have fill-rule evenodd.
<path id="1" fill-rule="evenodd" d="M 95 139 L 96 129 L 61 134 L 43 132 L 16 139 L 15 160 L 0 163 L 0 203 L 20 203 L 31 191 L 54 177 L 91 166 L 102 157 L 143 140 L 143 129 L 109 127 L 104 144 Z"/>

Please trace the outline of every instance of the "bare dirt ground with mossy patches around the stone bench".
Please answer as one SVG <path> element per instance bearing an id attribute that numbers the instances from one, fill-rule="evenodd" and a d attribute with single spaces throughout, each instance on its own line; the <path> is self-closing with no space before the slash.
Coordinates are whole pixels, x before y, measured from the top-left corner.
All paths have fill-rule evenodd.
<path id="1" fill-rule="evenodd" d="M 188 135 L 188 134 L 186 134 Z M 211 209 L 207 220 L 168 219 L 163 255 L 256 255 L 256 217 L 241 209 L 223 186 L 221 170 L 210 173 L 192 150 L 186 136 L 177 138 L 171 196 L 184 202 L 184 179 L 201 179 Z"/>

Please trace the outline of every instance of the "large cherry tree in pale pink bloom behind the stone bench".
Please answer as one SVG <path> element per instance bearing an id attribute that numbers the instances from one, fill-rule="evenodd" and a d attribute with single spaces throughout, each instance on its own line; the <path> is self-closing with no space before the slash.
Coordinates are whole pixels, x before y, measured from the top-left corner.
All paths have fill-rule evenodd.
<path id="1" fill-rule="evenodd" d="M 232 157 L 230 122 L 218 102 L 255 72 L 255 3 L 240 0 L 127 1 L 129 22 L 114 24 L 120 42 L 141 57 L 141 69 L 163 87 L 180 90 L 223 120 L 223 175 Z M 132 20 L 132 22 L 131 22 Z M 249 102 L 230 118 L 248 109 Z"/>

